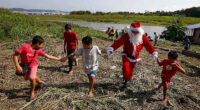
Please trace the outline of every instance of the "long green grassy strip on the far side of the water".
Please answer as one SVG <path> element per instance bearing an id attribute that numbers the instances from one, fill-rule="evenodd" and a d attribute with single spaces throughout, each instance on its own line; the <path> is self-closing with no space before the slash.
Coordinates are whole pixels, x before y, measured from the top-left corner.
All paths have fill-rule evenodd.
<path id="1" fill-rule="evenodd" d="M 184 25 L 200 23 L 200 18 L 184 17 L 174 18 L 171 16 L 145 16 L 145 15 L 45 15 L 33 16 L 40 20 L 75 20 L 91 22 L 112 22 L 121 24 L 130 24 L 132 22 L 141 22 L 142 25 L 166 26 L 175 19 L 180 19 Z"/>

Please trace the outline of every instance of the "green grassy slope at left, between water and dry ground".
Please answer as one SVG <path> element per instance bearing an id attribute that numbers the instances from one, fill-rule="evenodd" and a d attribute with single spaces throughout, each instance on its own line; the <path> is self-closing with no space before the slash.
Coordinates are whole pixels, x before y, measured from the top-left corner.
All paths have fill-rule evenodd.
<path id="1" fill-rule="evenodd" d="M 12 13 L 0 9 L 0 42 L 32 39 L 35 35 L 63 39 L 65 23 L 39 21 L 34 17 Z M 81 39 L 86 35 L 91 37 L 105 36 L 104 33 L 89 28 L 72 25 L 72 30 Z"/>

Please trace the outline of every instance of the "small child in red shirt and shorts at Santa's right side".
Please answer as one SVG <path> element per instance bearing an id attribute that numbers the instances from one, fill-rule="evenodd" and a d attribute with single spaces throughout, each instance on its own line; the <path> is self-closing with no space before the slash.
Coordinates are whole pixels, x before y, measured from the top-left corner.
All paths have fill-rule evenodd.
<path id="1" fill-rule="evenodd" d="M 162 83 L 158 86 L 158 90 L 163 86 L 163 103 L 167 103 L 167 89 L 168 83 L 171 82 L 172 77 L 176 74 L 177 71 L 186 74 L 186 71 L 181 67 L 181 65 L 176 61 L 178 54 L 175 51 L 170 51 L 168 53 L 168 59 L 160 61 L 157 59 L 159 66 L 163 66 L 161 73 Z"/>

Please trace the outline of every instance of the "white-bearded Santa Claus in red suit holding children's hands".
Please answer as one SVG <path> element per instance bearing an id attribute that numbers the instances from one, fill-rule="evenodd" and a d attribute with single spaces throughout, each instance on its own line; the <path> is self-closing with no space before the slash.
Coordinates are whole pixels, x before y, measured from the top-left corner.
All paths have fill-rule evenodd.
<path id="1" fill-rule="evenodd" d="M 150 54 L 153 54 L 154 59 L 158 57 L 158 53 L 147 39 L 140 23 L 132 23 L 130 27 L 126 27 L 126 32 L 127 33 L 115 41 L 107 50 L 107 54 L 109 55 L 123 45 L 123 52 L 121 53 L 123 61 L 123 79 L 125 80 L 123 88 L 126 88 L 127 82 L 133 77 L 136 63 L 140 60 L 139 53 L 143 46 Z"/>

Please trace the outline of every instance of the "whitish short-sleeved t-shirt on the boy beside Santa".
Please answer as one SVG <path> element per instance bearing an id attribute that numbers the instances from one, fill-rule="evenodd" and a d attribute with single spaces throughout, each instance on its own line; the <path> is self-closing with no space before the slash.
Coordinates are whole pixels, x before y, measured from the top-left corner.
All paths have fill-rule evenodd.
<path id="1" fill-rule="evenodd" d="M 76 56 L 82 56 L 83 68 L 87 74 L 98 69 L 98 54 L 101 54 L 101 50 L 96 45 L 91 49 L 80 48 L 75 52 Z"/>

